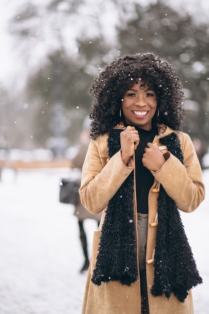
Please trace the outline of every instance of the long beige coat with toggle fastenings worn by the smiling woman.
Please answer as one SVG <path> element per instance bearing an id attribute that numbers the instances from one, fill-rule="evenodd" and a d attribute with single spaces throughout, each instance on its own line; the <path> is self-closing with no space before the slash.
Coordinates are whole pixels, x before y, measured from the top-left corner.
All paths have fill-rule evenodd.
<path id="1" fill-rule="evenodd" d="M 121 125 L 117 126 L 117 128 L 120 127 Z M 173 131 L 167 127 L 163 133 L 155 136 L 153 142 L 156 142 L 158 146 L 162 146 L 160 137 L 164 137 L 171 132 Z M 204 185 L 202 183 L 201 168 L 190 137 L 183 132 L 177 132 L 177 135 L 181 142 L 184 165 L 175 156 L 167 153 L 169 158 L 163 167 L 153 173 L 154 184 L 152 188 L 155 188 L 157 183 L 162 184 L 166 193 L 176 202 L 178 208 L 183 212 L 190 213 L 204 199 Z M 91 281 L 105 209 L 118 188 L 135 168 L 133 159 L 131 159 L 129 167 L 123 164 L 120 151 L 110 160 L 108 159 L 107 138 L 108 134 L 104 134 L 90 142 L 83 165 L 80 188 L 81 202 L 91 213 L 97 214 L 103 211 L 103 215 L 99 230 L 94 233 L 92 258 L 82 314 L 141 314 L 139 278 L 130 287 L 121 285 L 118 281 L 102 282 L 100 286 L 96 286 Z M 166 151 L 166 149 L 162 150 L 163 153 Z M 155 247 L 157 227 L 151 227 L 150 223 L 154 222 L 157 213 L 157 197 L 158 193 L 152 192 L 152 189 L 150 189 L 148 195 L 149 215 L 146 260 L 152 258 Z M 136 195 L 134 195 L 134 201 L 135 226 L 137 226 Z M 135 238 L 138 241 L 137 228 L 135 228 Z M 136 245 L 136 248 L 138 248 L 138 245 Z M 137 251 L 136 256 L 138 256 Z M 147 264 L 146 273 L 150 314 L 193 314 L 191 291 L 189 291 L 189 295 L 183 303 L 179 302 L 173 294 L 169 300 L 164 295 L 154 297 L 150 294 L 150 288 L 153 284 L 153 264 Z"/>

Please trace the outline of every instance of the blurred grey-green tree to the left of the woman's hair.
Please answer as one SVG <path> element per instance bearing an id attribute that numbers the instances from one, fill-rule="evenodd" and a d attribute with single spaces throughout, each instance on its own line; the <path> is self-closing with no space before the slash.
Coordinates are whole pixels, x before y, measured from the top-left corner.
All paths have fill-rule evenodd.
<path id="1" fill-rule="evenodd" d="M 29 77 L 26 97 L 36 107 L 33 134 L 37 144 L 53 148 L 59 142 L 66 148 L 78 141 L 91 104 L 91 78 L 84 66 L 85 63 L 57 51 Z"/>

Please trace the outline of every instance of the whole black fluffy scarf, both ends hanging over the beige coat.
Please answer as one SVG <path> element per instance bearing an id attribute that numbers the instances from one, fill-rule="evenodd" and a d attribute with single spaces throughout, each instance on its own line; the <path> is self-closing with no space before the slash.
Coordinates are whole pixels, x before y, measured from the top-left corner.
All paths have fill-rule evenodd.
<path id="1" fill-rule="evenodd" d="M 113 129 L 108 137 L 109 158 L 120 149 L 121 131 Z M 161 138 L 161 142 L 183 163 L 180 142 L 175 133 Z M 109 201 L 92 276 L 92 282 L 96 285 L 100 285 L 102 281 L 116 280 L 130 286 L 137 280 L 133 176 L 132 172 Z M 201 282 L 179 211 L 175 202 L 160 186 L 154 284 L 151 293 L 154 296 L 164 293 L 169 298 L 173 292 L 179 301 L 183 302 L 188 295 L 187 291 Z"/>

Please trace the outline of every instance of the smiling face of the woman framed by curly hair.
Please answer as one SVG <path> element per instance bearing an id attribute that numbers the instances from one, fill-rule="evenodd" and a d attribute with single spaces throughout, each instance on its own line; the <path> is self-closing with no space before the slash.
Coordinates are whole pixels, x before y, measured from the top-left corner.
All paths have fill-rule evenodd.
<path id="1" fill-rule="evenodd" d="M 125 92 L 122 109 L 125 122 L 149 131 L 157 108 L 156 93 L 139 80 Z"/>

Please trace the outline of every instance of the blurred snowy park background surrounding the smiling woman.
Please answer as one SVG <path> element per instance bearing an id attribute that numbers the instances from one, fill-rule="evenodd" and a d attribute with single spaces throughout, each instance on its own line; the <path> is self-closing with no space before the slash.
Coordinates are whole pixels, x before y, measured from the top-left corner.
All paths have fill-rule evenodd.
<path id="1" fill-rule="evenodd" d="M 59 182 L 91 106 L 94 75 L 111 60 L 153 51 L 184 86 L 183 131 L 209 187 L 207 0 L 0 1 L 0 314 L 80 314 L 86 272 L 73 205 Z M 88 124 L 88 123 L 87 123 Z M 208 197 L 183 224 L 203 284 L 194 313 L 208 313 Z M 84 222 L 91 254 L 96 220 Z"/>

